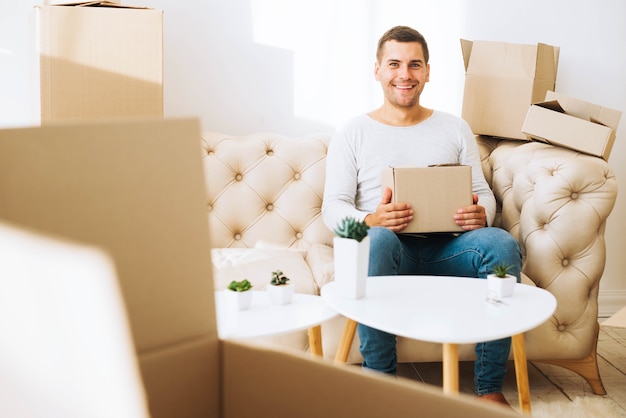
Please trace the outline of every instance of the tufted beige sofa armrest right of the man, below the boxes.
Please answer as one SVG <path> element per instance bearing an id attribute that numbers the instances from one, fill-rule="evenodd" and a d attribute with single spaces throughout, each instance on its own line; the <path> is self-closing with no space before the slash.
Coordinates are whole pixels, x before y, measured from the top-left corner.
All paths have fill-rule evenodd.
<path id="1" fill-rule="evenodd" d="M 544 355 L 588 348 L 570 343 L 593 339 L 594 327 L 581 324 L 597 321 L 604 228 L 617 197 L 613 170 L 601 158 L 538 142 L 477 142 L 498 202 L 496 226 L 518 239 L 523 272 L 557 298 L 550 325 L 535 332 L 562 332 L 563 344 L 546 347 Z"/>

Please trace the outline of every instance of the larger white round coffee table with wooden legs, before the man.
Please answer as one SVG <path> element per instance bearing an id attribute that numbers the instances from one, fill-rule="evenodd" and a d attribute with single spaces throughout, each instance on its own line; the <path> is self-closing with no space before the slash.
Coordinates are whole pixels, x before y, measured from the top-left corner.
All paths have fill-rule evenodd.
<path id="1" fill-rule="evenodd" d="M 350 320 L 336 359 L 345 362 L 356 324 L 395 335 L 443 344 L 443 385 L 458 392 L 458 344 L 512 337 L 520 409 L 530 411 L 528 369 L 523 333 L 544 323 L 556 299 L 543 289 L 517 284 L 511 298 L 487 300 L 487 281 L 448 276 L 368 277 L 363 299 L 342 298 L 335 282 L 322 298 Z"/>

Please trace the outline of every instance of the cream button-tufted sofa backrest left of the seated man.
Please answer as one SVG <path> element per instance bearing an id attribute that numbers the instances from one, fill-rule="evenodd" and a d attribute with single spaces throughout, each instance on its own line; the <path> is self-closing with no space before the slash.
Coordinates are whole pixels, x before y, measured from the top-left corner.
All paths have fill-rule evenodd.
<path id="1" fill-rule="evenodd" d="M 322 221 L 330 134 L 202 134 L 213 247 L 332 245 Z"/>

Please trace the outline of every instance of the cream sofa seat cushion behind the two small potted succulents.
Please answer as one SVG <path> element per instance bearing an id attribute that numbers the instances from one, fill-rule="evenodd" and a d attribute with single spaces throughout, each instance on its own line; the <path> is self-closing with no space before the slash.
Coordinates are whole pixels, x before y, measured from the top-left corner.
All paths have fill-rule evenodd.
<path id="1" fill-rule="evenodd" d="M 213 281 L 215 289 L 225 289 L 233 280 L 248 279 L 254 290 L 264 290 L 274 270 L 291 279 L 296 292 L 315 294 L 316 287 L 301 251 L 266 248 L 214 248 Z"/>

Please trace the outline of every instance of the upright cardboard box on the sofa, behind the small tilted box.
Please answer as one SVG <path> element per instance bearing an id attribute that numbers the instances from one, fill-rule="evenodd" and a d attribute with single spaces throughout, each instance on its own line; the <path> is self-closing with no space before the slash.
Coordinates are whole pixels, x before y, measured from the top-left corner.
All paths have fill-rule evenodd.
<path id="1" fill-rule="evenodd" d="M 465 62 L 462 117 L 476 135 L 527 140 L 528 106 L 556 84 L 559 48 L 461 40 Z"/>

